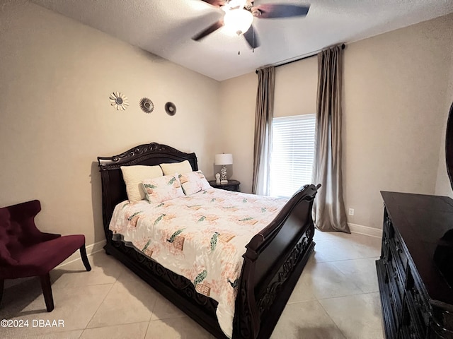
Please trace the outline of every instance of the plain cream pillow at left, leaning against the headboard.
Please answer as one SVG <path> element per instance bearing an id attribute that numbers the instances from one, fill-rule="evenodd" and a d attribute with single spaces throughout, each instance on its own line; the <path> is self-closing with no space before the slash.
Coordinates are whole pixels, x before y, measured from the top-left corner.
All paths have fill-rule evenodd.
<path id="1" fill-rule="evenodd" d="M 145 198 L 142 181 L 162 177 L 160 166 L 121 166 L 122 177 L 125 179 L 127 198 L 130 202 L 140 201 Z"/>

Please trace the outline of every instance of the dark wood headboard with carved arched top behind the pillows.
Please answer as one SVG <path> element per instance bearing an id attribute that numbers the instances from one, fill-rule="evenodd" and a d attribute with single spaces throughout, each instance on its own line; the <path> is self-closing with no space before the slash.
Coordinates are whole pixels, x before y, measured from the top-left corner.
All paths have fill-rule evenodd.
<path id="1" fill-rule="evenodd" d="M 198 170 L 195 153 L 184 153 L 167 145 L 148 143 L 138 145 L 125 153 L 111 157 L 98 157 L 102 184 L 102 210 L 105 239 L 112 239 L 108 230 L 113 209 L 121 201 L 127 200 L 126 185 L 122 179 L 121 166 L 147 165 L 181 162 L 188 160 L 194 171 Z"/>

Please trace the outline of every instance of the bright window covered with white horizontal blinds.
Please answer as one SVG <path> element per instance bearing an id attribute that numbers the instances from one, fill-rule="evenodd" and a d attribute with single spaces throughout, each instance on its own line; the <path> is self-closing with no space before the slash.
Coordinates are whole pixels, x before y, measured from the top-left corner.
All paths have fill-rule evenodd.
<path id="1" fill-rule="evenodd" d="M 311 184 L 315 114 L 273 119 L 270 157 L 270 195 L 289 198 Z"/>

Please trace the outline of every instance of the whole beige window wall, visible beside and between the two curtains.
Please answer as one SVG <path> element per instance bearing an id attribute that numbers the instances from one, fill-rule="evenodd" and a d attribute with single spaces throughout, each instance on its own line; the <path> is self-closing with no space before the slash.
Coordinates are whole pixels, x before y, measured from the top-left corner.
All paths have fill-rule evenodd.
<path id="1" fill-rule="evenodd" d="M 445 188 L 440 149 L 453 93 L 452 37 L 450 15 L 346 47 L 344 198 L 346 208 L 355 209 L 349 222 L 382 227 L 379 191 L 435 194 L 440 191 L 436 186 Z M 277 68 L 275 116 L 315 112 L 316 72 L 316 58 Z M 223 142 L 246 161 L 235 161 L 234 176 L 249 191 L 253 145 L 243 147 L 243 141 L 253 140 L 256 75 L 224 81 L 221 88 L 221 112 L 226 117 L 224 105 L 229 105 L 229 116 L 236 121 L 224 126 Z M 240 137 L 235 133 L 238 124 L 247 126 Z"/>

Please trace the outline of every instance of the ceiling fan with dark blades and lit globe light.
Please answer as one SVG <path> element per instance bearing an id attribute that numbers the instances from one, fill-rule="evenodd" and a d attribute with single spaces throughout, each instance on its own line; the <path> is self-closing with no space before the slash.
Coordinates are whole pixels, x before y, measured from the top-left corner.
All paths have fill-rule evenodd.
<path id="1" fill-rule="evenodd" d="M 243 35 L 248 45 L 254 49 L 260 46 L 256 28 L 253 28 L 254 18 L 291 18 L 294 16 L 306 16 L 310 5 L 293 4 L 263 4 L 253 6 L 254 1 L 250 0 L 202 0 L 207 4 L 220 8 L 224 16 L 217 22 L 210 25 L 202 32 L 192 37 L 198 41 L 210 35 L 212 32 L 225 26 L 230 32 L 236 35 Z"/>

